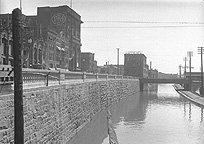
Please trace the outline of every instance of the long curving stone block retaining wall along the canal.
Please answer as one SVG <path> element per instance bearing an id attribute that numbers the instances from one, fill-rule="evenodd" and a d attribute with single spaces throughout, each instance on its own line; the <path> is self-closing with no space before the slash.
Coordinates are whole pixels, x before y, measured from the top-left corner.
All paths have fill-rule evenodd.
<path id="1" fill-rule="evenodd" d="M 23 97 L 24 143 L 65 144 L 97 112 L 138 91 L 138 80 L 112 80 L 26 92 Z M 13 143 L 13 95 L 0 96 L 0 110 L 0 143 Z"/>

